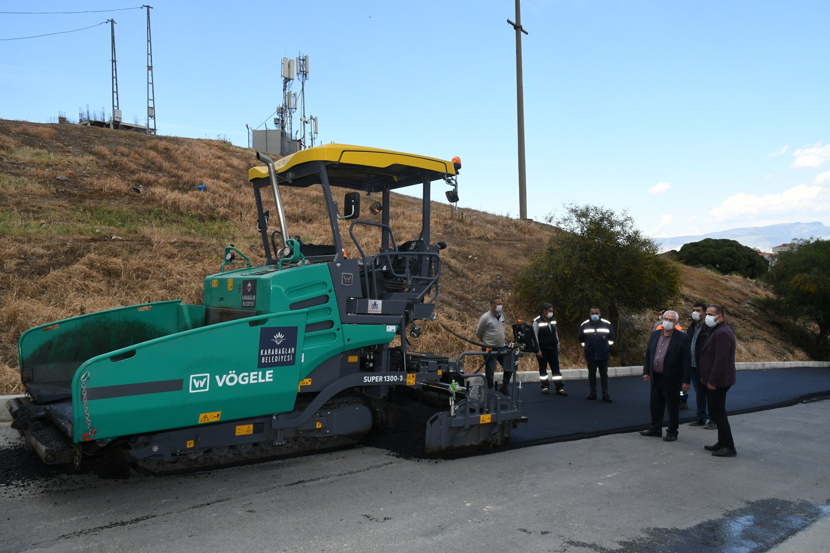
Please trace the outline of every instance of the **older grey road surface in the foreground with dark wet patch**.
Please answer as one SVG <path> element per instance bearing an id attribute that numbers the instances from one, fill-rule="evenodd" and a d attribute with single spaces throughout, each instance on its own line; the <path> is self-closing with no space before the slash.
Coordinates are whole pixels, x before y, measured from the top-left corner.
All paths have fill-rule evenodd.
<path id="1" fill-rule="evenodd" d="M 0 488 L 0 551 L 768 551 L 826 524 L 828 420 L 830 401 L 735 416 L 725 459 L 684 426 L 671 444 L 627 433 L 438 462 L 361 448 L 51 478 Z"/>

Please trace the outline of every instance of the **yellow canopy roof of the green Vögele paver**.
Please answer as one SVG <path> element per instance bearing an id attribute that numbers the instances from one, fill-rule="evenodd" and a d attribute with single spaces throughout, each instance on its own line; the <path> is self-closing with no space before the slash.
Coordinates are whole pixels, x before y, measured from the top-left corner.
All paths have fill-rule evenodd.
<path id="1" fill-rule="evenodd" d="M 394 152 L 381 148 L 367 148 L 349 144 L 323 144 L 300 150 L 274 162 L 280 181 L 295 187 L 307 187 L 319 181 L 309 175 L 305 163 L 324 162 L 329 183 L 334 187 L 369 190 L 378 186 L 390 188 L 419 184 L 424 179 L 434 181 L 446 175 L 455 175 L 452 162 Z M 248 179 L 268 177 L 267 167 L 251 167 Z"/>

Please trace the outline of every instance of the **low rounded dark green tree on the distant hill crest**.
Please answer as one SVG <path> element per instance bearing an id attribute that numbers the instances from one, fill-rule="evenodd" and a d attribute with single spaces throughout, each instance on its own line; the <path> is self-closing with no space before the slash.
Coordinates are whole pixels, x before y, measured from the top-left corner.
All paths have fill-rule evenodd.
<path id="1" fill-rule="evenodd" d="M 720 274 L 737 273 L 757 279 L 767 273 L 768 261 L 758 252 L 736 240 L 705 238 L 684 244 L 677 260 L 687 265 L 702 265 Z"/>

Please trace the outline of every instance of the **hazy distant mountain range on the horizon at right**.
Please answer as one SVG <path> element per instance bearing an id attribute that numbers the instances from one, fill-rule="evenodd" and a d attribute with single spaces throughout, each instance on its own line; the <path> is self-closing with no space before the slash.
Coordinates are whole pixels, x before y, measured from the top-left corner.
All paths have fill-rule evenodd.
<path id="1" fill-rule="evenodd" d="M 697 242 L 705 238 L 725 238 L 737 240 L 750 248 L 761 251 L 772 251 L 777 245 L 787 244 L 795 238 L 830 238 L 830 226 L 818 221 L 812 223 L 780 223 L 768 226 L 747 226 L 740 229 L 721 230 L 710 232 L 707 235 L 671 236 L 669 238 L 655 238 L 661 250 L 680 250 L 681 246 L 689 242 Z"/>

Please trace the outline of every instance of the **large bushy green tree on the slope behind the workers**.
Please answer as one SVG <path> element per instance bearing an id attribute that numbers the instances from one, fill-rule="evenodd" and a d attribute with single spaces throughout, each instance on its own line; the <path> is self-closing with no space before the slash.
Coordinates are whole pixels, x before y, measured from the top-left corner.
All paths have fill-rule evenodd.
<path id="1" fill-rule="evenodd" d="M 516 292 L 530 305 L 553 303 L 560 324 L 576 326 L 596 304 L 619 330 L 621 310 L 656 308 L 679 295 L 680 266 L 657 255 L 627 212 L 570 205 L 555 224 L 561 231 L 531 257 Z"/>

